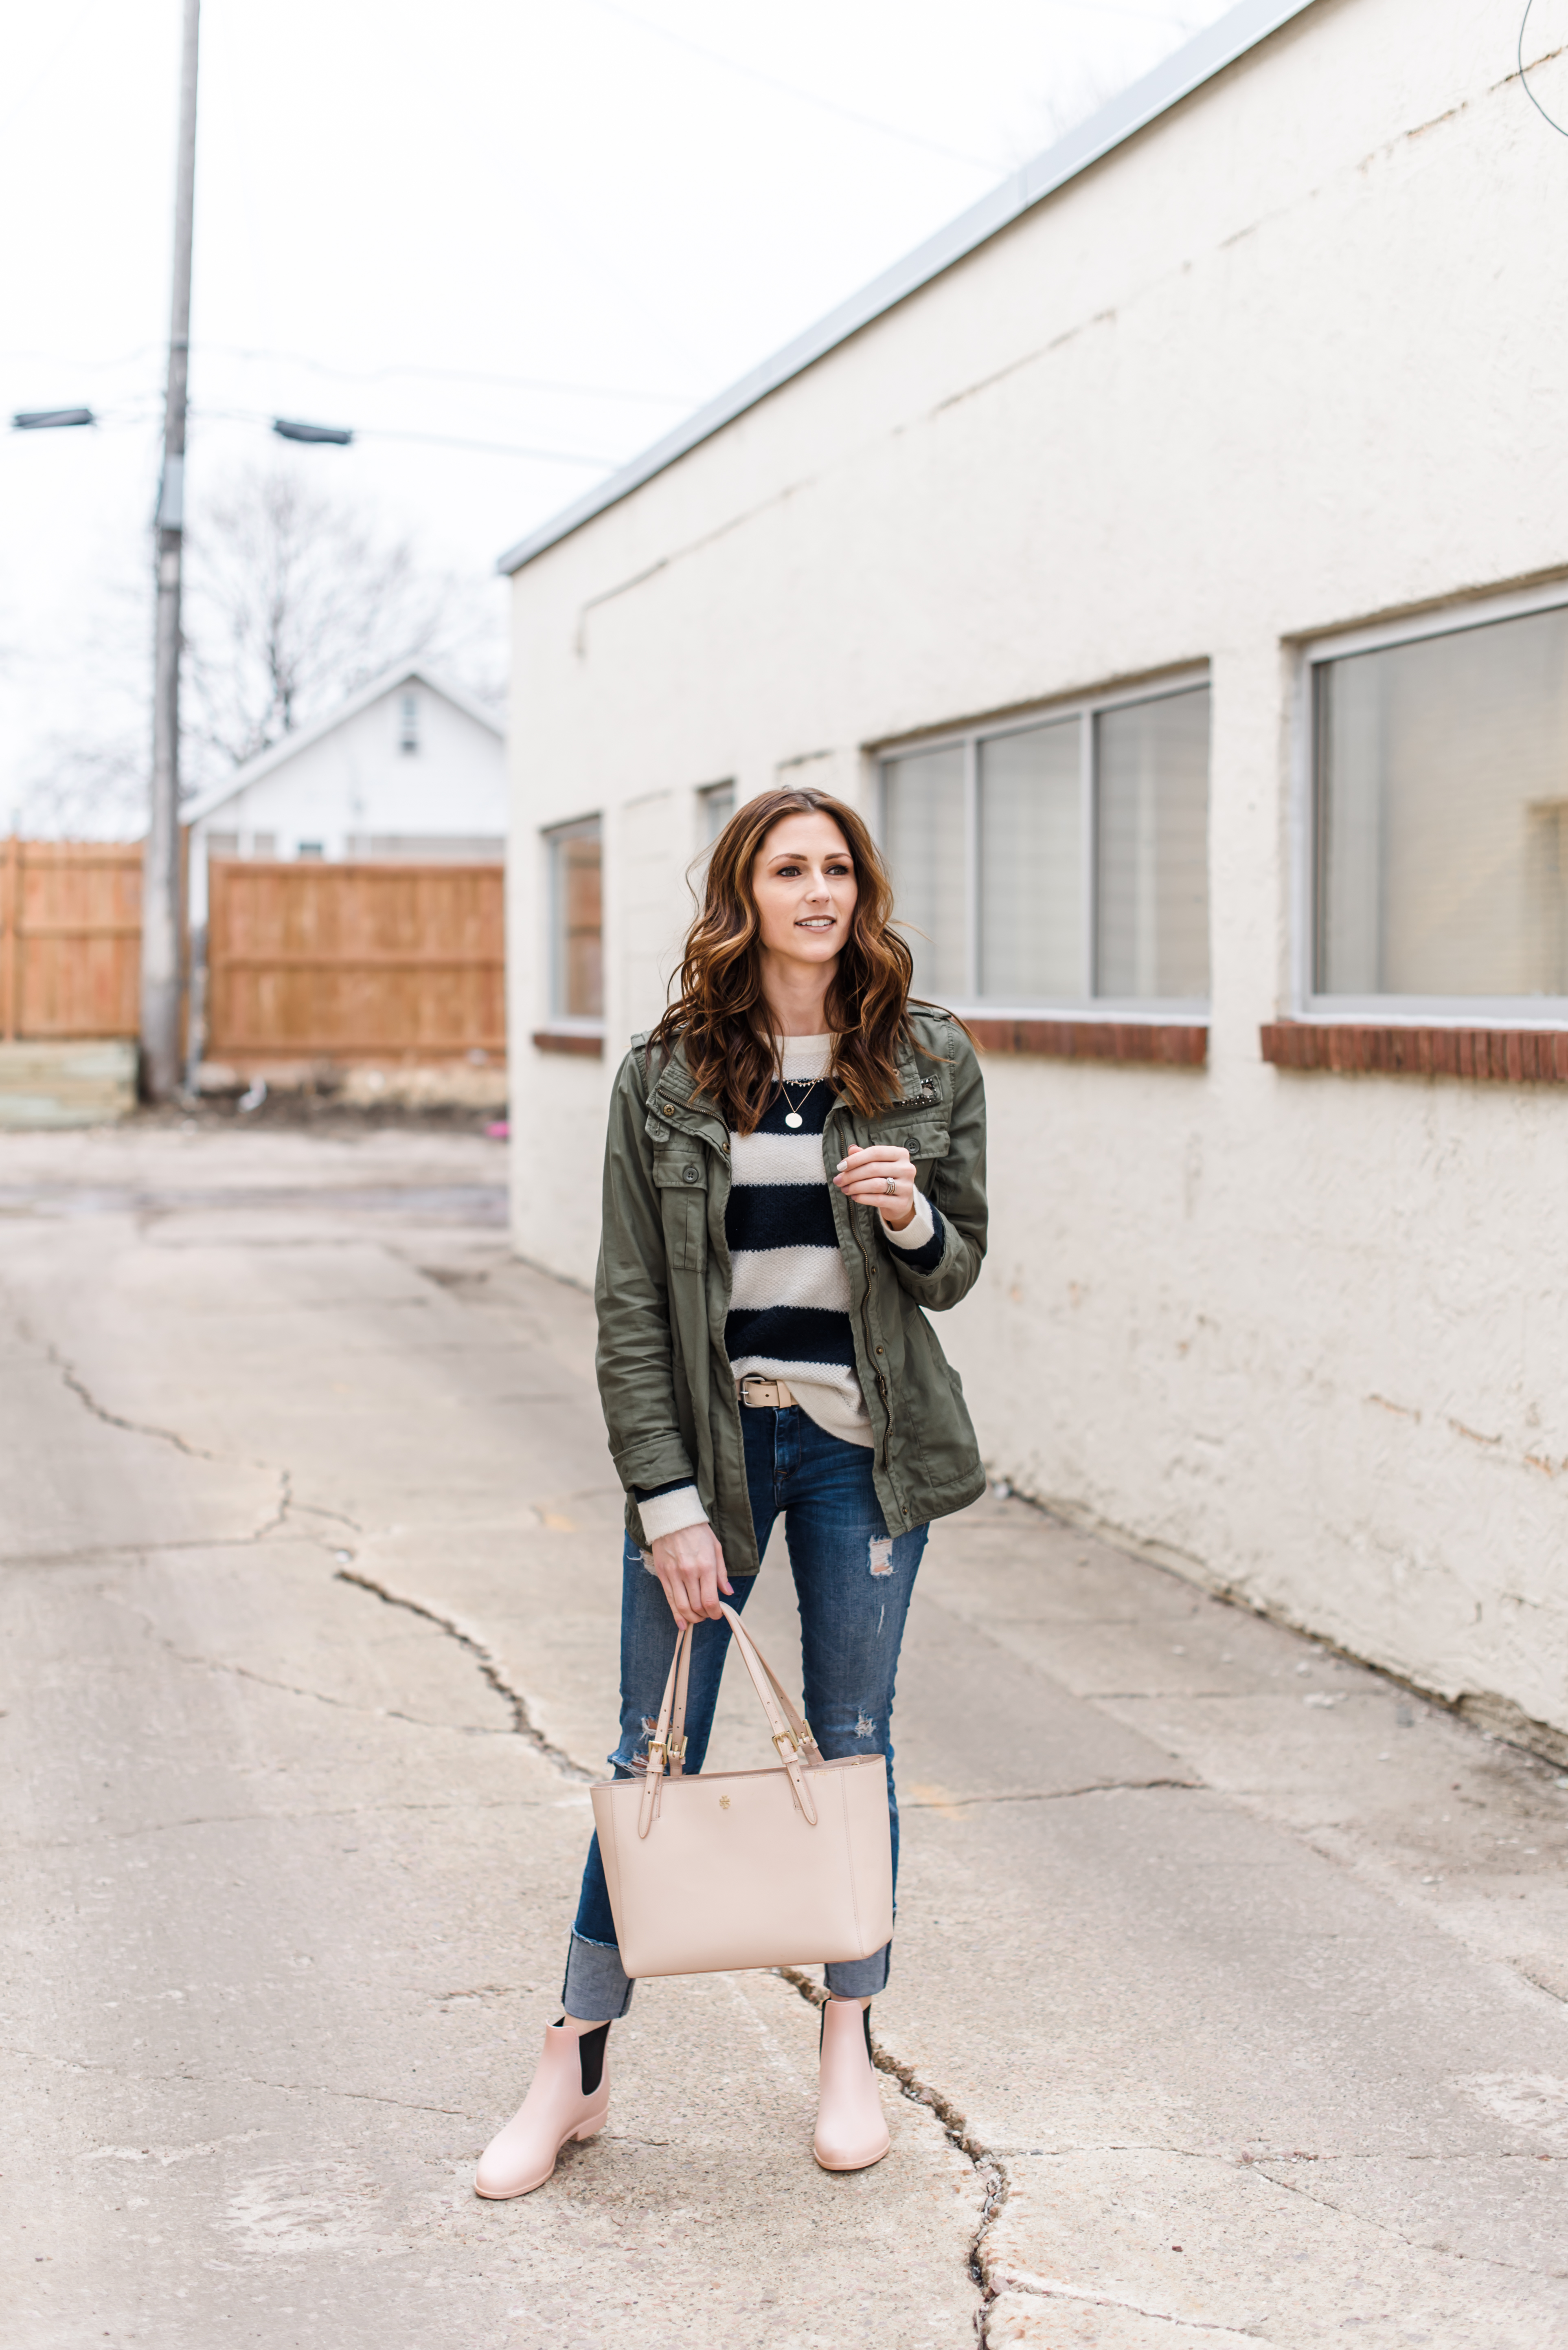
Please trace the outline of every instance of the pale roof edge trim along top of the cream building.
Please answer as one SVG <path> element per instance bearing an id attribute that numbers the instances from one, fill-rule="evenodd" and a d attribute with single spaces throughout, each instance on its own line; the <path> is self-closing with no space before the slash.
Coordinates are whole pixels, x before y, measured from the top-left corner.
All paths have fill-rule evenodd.
<path id="1" fill-rule="evenodd" d="M 1089 164 L 1099 162 L 1101 155 L 1110 155 L 1113 148 L 1122 146 L 1136 132 L 1145 129 L 1160 115 L 1178 106 L 1181 99 L 1190 96 L 1204 82 L 1211 82 L 1216 73 L 1232 66 L 1258 42 L 1277 33 L 1279 26 L 1289 24 L 1291 16 L 1303 16 L 1317 0 L 1239 0 L 1237 7 L 1228 9 L 1192 40 L 1174 49 L 1171 56 L 1162 59 L 1153 73 L 1141 80 L 1129 82 L 1127 89 L 1117 92 L 1099 113 L 1080 122 L 1077 129 L 1059 139 L 1042 155 L 1021 164 L 1012 172 L 991 195 L 981 195 L 976 204 L 960 212 L 955 221 L 939 228 L 934 237 L 918 244 L 913 254 L 904 254 L 894 261 L 890 270 L 873 277 L 871 284 L 850 294 L 847 301 L 819 317 L 805 334 L 798 334 L 793 343 L 784 343 L 772 357 L 753 367 L 751 374 L 742 376 L 728 390 L 718 392 L 704 407 L 695 409 L 683 423 L 667 432 L 664 439 L 653 442 L 641 456 L 634 456 L 629 465 L 608 475 L 596 489 L 587 489 L 570 505 L 561 508 L 549 522 L 542 522 L 538 531 L 519 538 L 509 548 L 495 569 L 500 573 L 521 571 L 530 564 L 535 555 L 545 555 L 547 548 L 559 545 L 561 538 L 570 538 L 580 531 L 584 522 L 594 515 L 603 515 L 606 508 L 617 505 L 622 498 L 650 482 L 655 472 L 664 472 L 676 458 L 683 458 L 688 449 L 699 442 L 711 439 L 746 409 L 753 409 L 758 400 L 768 392 L 777 392 L 782 383 L 791 376 L 803 374 L 815 360 L 822 360 L 838 343 L 847 343 L 852 334 L 869 327 L 871 320 L 892 310 L 908 294 L 918 294 L 920 287 L 930 284 L 944 270 L 962 261 L 998 230 L 1007 228 L 1021 214 L 1030 212 L 1066 181 L 1077 179 Z"/>

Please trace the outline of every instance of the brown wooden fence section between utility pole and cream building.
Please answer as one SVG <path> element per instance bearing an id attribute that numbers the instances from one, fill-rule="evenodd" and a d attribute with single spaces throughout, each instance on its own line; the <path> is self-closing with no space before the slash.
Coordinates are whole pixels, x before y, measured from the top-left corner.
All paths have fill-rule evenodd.
<path id="1" fill-rule="evenodd" d="M 505 867 L 211 860 L 211 1060 L 505 1046 Z"/>

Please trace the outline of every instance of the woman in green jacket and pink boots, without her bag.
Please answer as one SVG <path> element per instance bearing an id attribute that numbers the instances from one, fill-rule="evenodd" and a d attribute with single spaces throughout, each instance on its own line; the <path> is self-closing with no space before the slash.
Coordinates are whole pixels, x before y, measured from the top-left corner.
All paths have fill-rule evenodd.
<path id="1" fill-rule="evenodd" d="M 681 994 L 634 1039 L 610 1104 L 599 1391 L 627 1488 L 617 1779 L 648 1762 L 676 1633 L 692 1636 L 688 1770 L 702 1770 L 730 1626 L 777 1516 L 822 1753 L 887 1755 L 892 1683 L 932 1518 L 984 1471 L 922 1309 L 986 1250 L 986 1100 L 951 1013 L 911 1003 L 911 954 L 871 834 L 824 792 L 765 792 L 714 846 Z M 824 2169 L 887 2153 L 871 1998 L 887 1948 L 826 1969 Z M 589 1845 L 566 2014 L 477 2193 L 526 2195 L 608 2113 L 631 2002 Z"/>

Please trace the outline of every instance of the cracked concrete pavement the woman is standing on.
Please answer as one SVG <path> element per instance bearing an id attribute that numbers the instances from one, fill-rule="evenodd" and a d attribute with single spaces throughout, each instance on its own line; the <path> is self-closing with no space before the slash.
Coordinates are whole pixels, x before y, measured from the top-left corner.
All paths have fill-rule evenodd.
<path id="1" fill-rule="evenodd" d="M 486 2207 L 620 1582 L 498 1147 L 0 1137 L 0 1398 L 7 2350 L 1568 2341 L 1549 1765 L 991 1497 L 899 1690 L 892 2157 L 817 2171 L 791 1981 L 648 1983 Z"/>

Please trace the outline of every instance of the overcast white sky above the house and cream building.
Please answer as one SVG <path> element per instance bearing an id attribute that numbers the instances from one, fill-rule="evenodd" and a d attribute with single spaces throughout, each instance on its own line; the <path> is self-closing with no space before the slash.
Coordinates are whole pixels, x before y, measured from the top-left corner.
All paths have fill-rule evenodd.
<path id="1" fill-rule="evenodd" d="M 486 580 L 1225 5 L 204 0 L 188 519 L 272 416 L 347 423 L 293 461 Z M 141 627 L 178 24 L 7 21 L 0 411 L 103 423 L 0 432 L 0 830 Z"/>

